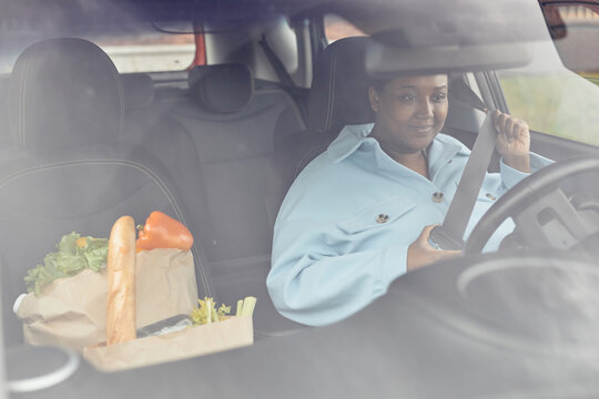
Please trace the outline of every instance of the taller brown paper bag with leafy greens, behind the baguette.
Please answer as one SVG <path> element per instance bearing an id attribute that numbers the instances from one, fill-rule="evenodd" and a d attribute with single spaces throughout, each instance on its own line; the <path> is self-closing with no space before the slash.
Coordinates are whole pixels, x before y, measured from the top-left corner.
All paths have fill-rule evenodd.
<path id="1" fill-rule="evenodd" d="M 108 238 L 71 233 L 62 237 L 57 252 L 45 256 L 43 265 L 28 272 L 31 293 L 21 295 L 14 305 L 28 344 L 82 350 L 106 340 L 108 247 Z M 143 250 L 135 263 L 134 326 L 189 315 L 197 305 L 191 250 Z"/>

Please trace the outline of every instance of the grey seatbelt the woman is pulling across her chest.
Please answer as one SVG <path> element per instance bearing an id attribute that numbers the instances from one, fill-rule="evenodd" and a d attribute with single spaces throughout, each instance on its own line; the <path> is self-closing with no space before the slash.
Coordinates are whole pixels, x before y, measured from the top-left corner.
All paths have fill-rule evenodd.
<path id="1" fill-rule="evenodd" d="M 443 225 L 430 232 L 429 242 L 438 249 L 463 248 L 464 233 L 473 214 L 497 141 L 491 112 L 485 109 L 483 101 L 464 81 L 459 80 L 453 83 L 450 90 L 454 91 L 456 98 L 475 109 L 487 112 L 487 116 L 480 126 Z"/>

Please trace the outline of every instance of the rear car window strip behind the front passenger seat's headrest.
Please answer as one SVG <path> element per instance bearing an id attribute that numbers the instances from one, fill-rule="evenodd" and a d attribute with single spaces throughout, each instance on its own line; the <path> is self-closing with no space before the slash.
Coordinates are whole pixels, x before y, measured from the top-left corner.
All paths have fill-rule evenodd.
<path id="1" fill-rule="evenodd" d="M 120 73 L 182 71 L 195 57 L 195 39 L 191 23 L 174 31 L 160 31 L 151 23 L 119 25 L 101 32 L 78 32 L 52 27 L 0 29 L 0 73 L 10 73 L 18 55 L 30 44 L 49 37 L 73 37 L 98 44 L 112 59 Z M 176 33 L 174 33 L 176 32 Z"/>

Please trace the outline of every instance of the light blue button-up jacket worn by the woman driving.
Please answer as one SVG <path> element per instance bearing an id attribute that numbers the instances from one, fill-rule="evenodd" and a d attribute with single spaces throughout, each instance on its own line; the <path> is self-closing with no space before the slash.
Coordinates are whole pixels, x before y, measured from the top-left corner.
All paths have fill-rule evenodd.
<path id="1" fill-rule="evenodd" d="M 367 136 L 372 127 L 346 126 L 282 204 L 266 285 L 277 310 L 292 320 L 327 325 L 385 294 L 406 273 L 409 244 L 426 225 L 443 222 L 454 197 L 470 153 L 464 144 L 438 134 L 428 149 L 427 180 L 383 152 Z M 549 163 L 530 154 L 532 171 Z M 525 176 L 502 162 L 500 173 L 487 174 L 465 238 L 495 198 Z M 444 194 L 441 202 L 435 193 Z M 512 228 L 505 223 L 487 249 Z"/>

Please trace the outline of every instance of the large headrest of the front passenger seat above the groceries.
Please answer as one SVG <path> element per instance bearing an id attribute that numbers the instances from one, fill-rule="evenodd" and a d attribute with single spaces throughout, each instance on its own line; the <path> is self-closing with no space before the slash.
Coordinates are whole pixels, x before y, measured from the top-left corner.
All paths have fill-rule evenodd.
<path id="1" fill-rule="evenodd" d="M 114 143 L 123 94 L 116 68 L 95 44 L 50 39 L 24 50 L 9 82 L 9 123 L 20 150 Z"/>

